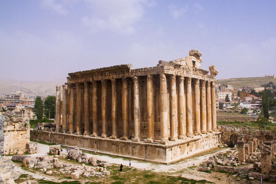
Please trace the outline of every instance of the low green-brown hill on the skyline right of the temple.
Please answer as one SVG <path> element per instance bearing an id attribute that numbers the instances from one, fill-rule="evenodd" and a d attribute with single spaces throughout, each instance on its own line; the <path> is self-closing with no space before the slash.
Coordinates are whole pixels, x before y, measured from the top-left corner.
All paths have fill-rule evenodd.
<path id="1" fill-rule="evenodd" d="M 270 77 L 247 77 L 247 78 L 231 78 L 231 79 L 218 79 L 216 84 L 229 84 L 233 85 L 234 88 L 244 87 L 260 87 L 268 82 L 274 82 L 276 84 L 276 78 Z"/>

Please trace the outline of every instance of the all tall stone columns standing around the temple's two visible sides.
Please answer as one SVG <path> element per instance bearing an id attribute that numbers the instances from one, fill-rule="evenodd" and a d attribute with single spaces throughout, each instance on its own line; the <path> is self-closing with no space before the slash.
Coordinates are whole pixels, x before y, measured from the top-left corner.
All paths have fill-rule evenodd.
<path id="1" fill-rule="evenodd" d="M 167 99 L 167 77 L 160 74 L 160 131 L 161 143 L 168 141 L 168 99 Z M 133 78 L 134 93 L 134 141 L 141 140 L 140 132 L 140 94 L 137 76 Z M 176 79 L 178 80 L 178 97 L 176 93 Z M 171 140 L 184 139 L 186 136 L 192 137 L 217 130 L 216 125 L 216 105 L 215 105 L 215 83 L 205 80 L 193 79 L 194 82 L 194 102 L 195 112 L 193 114 L 192 104 L 192 78 L 183 76 L 170 76 L 170 96 L 171 96 Z M 186 84 L 184 85 L 184 81 Z M 107 137 L 107 80 L 102 83 L 102 137 Z M 116 79 L 111 79 L 112 83 L 112 135 L 110 138 L 118 138 L 117 122 L 117 94 Z M 211 86 L 212 85 L 212 86 Z M 186 94 L 184 94 L 186 86 Z M 98 100 L 97 100 L 98 81 L 92 82 L 92 136 L 99 136 L 98 132 Z M 74 133 L 74 88 L 75 84 L 69 84 L 68 89 L 63 85 L 63 127 L 62 132 Z M 77 83 L 76 85 L 76 134 L 82 133 L 81 111 L 84 110 L 84 135 L 90 135 L 90 90 L 89 82 Z M 56 131 L 60 131 L 60 86 L 56 88 Z M 81 103 L 82 92 L 84 93 L 84 104 Z M 67 95 L 68 94 L 68 95 Z M 67 99 L 67 96 L 69 100 Z M 186 97 L 186 98 L 185 98 Z M 68 100 L 68 103 L 67 103 Z M 178 100 L 178 101 L 177 101 Z M 69 120 L 67 127 L 67 106 L 69 107 Z M 82 107 L 83 106 L 83 107 Z M 128 117 L 128 79 L 122 78 L 122 121 L 123 135 L 121 139 L 129 138 L 129 117 Z M 194 132 L 192 119 L 194 115 Z M 59 117 L 59 118 L 58 118 Z M 147 122 L 148 135 L 146 142 L 154 141 L 154 84 L 153 75 L 147 78 Z"/>

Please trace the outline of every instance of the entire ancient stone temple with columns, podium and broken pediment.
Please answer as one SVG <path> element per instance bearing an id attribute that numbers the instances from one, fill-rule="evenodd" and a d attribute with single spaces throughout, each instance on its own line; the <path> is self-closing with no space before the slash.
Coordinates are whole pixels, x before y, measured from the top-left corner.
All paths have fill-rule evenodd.
<path id="1" fill-rule="evenodd" d="M 56 86 L 56 132 L 40 139 L 160 163 L 216 147 L 218 72 L 201 69 L 198 50 L 189 55 L 69 73 L 62 102 Z"/>

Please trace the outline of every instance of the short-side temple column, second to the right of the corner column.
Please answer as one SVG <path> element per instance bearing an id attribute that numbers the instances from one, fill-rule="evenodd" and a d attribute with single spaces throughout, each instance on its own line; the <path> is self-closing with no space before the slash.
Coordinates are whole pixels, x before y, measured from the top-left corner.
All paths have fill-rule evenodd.
<path id="1" fill-rule="evenodd" d="M 184 98 L 184 77 L 178 78 L 178 139 L 185 139 L 186 136 L 186 111 Z"/>

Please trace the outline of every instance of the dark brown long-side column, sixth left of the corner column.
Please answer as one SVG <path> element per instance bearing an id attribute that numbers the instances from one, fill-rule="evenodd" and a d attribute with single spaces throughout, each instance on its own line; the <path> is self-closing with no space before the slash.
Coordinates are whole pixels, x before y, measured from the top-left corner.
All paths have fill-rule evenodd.
<path id="1" fill-rule="evenodd" d="M 92 81 L 92 136 L 97 137 L 99 135 L 98 130 L 98 81 Z"/>

